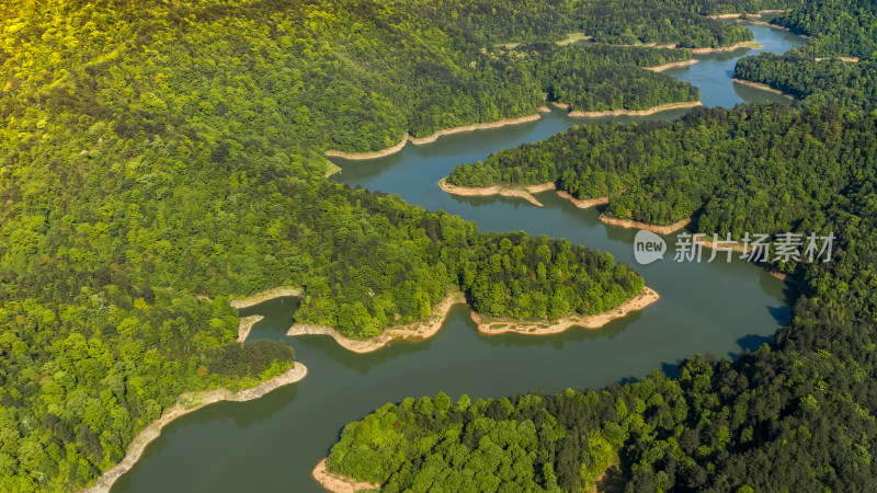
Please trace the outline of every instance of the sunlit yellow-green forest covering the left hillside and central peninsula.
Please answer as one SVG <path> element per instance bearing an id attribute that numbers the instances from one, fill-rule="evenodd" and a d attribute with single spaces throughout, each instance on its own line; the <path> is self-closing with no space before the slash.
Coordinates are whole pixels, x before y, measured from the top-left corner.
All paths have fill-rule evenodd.
<path id="1" fill-rule="evenodd" d="M 600 252 L 480 233 L 324 177 L 327 149 L 535 113 L 546 84 L 584 83 L 561 61 L 617 73 L 593 104 L 679 89 L 635 67 L 659 61 L 647 49 L 500 53 L 639 33 L 682 9 L 596 25 L 580 8 L 49 0 L 0 13 L 0 490 L 83 486 L 181 393 L 289 368 L 289 347 L 236 342 L 231 297 L 300 286 L 297 320 L 354 337 L 422 318 L 455 285 L 510 317 L 631 297 L 642 278 Z M 738 27 L 691 14 L 667 41 L 728 44 Z"/>

